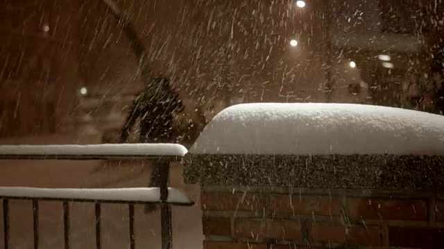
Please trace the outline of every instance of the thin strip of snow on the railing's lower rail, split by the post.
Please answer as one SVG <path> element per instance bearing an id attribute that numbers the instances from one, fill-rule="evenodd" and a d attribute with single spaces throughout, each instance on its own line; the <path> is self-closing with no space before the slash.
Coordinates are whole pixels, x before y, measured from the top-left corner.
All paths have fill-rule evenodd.
<path id="1" fill-rule="evenodd" d="M 116 189 L 51 189 L 40 187 L 0 187 L 0 197 L 43 199 L 100 200 L 100 201 L 160 201 L 158 187 L 130 187 Z M 193 203 L 182 191 L 168 188 L 169 203 Z"/>

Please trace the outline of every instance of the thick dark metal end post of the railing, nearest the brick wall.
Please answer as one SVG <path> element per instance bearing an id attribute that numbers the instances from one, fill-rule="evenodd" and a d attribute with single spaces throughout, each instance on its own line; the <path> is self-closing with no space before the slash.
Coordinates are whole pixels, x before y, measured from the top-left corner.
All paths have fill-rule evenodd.
<path id="1" fill-rule="evenodd" d="M 169 162 L 159 163 L 160 167 L 160 222 L 162 229 L 162 249 L 173 248 L 173 228 L 171 225 L 171 205 L 168 200 Z"/>

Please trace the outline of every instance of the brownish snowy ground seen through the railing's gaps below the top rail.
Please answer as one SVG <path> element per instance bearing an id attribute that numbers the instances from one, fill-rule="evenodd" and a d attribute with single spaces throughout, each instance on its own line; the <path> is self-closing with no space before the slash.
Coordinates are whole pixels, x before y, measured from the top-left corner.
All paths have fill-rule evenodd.
<path id="1" fill-rule="evenodd" d="M 199 187 L 183 183 L 180 164 L 171 168 L 171 186 L 182 188 L 197 201 L 192 207 L 173 208 L 173 248 L 202 248 Z M 114 163 L 101 165 L 94 161 L 0 160 L 2 186 L 146 187 L 149 173 L 149 167 L 146 169 L 141 162 L 137 161 L 118 166 Z M 102 213 L 103 248 L 129 248 L 128 207 L 121 204 L 103 205 Z M 135 215 L 136 248 L 161 248 L 159 212 L 144 214 L 143 206 L 137 206 Z M 2 217 L 0 214 L 1 223 Z M 11 201 L 12 248 L 33 248 L 32 228 L 31 202 Z M 40 204 L 40 230 L 40 248 L 63 248 L 61 203 L 42 202 Z M 0 226 L 0 237 L 2 236 L 3 226 Z M 71 248 L 94 248 L 94 239 L 94 205 L 73 204 L 71 206 Z"/>

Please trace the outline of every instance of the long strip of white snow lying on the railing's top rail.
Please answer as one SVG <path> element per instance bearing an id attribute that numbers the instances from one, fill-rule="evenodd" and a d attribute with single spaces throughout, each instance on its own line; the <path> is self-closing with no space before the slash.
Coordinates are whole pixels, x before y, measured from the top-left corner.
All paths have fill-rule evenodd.
<path id="1" fill-rule="evenodd" d="M 0 145 L 0 155 L 185 156 L 178 144 Z"/>

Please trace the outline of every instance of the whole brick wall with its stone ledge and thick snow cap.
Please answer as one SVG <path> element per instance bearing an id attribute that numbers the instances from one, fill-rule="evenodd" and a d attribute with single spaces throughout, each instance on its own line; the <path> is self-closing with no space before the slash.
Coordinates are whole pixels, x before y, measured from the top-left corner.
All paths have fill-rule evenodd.
<path id="1" fill-rule="evenodd" d="M 216 115 L 184 175 L 205 248 L 441 248 L 443 162 L 444 116 L 257 103 Z"/>

